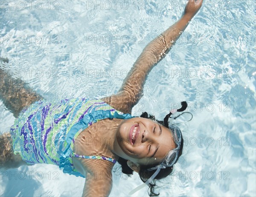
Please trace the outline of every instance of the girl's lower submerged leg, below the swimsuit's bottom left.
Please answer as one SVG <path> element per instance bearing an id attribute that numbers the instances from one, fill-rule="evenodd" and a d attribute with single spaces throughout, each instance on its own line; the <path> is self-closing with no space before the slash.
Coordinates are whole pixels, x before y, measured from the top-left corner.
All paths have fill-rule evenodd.
<path id="1" fill-rule="evenodd" d="M 12 138 L 10 133 L 0 135 L 0 169 L 18 168 L 27 165 L 19 154 L 13 154 Z"/>

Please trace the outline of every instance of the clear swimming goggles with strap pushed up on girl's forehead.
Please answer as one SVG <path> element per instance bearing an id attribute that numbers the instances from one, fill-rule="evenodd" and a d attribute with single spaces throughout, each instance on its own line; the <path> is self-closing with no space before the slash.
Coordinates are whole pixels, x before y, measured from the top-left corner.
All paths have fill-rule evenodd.
<path id="1" fill-rule="evenodd" d="M 177 109 L 177 111 L 184 111 L 187 108 L 186 101 L 181 102 L 181 105 L 182 105 L 182 107 L 180 109 Z M 174 125 L 169 126 L 168 120 L 169 120 L 169 117 L 173 113 L 174 113 L 173 111 L 170 111 L 170 113 L 166 115 L 166 117 L 164 118 L 164 125 L 171 129 L 173 140 L 177 144 L 177 148 L 170 150 L 160 165 L 157 165 L 153 168 L 149 168 L 147 171 L 152 171 L 155 169 L 156 169 L 156 171 L 145 183 L 143 183 L 142 185 L 138 186 L 137 188 L 134 188 L 133 190 L 131 190 L 129 192 L 129 195 L 134 194 L 136 191 L 140 190 L 141 188 L 143 188 L 143 187 L 147 186 L 149 183 L 151 183 L 151 181 L 157 176 L 157 174 L 160 172 L 161 169 L 164 169 L 166 167 L 171 167 L 177 162 L 177 158 L 178 158 L 179 151 L 180 151 L 180 143 L 181 143 L 182 135 L 180 132 L 180 128 L 178 128 L 177 126 L 174 126 Z"/>

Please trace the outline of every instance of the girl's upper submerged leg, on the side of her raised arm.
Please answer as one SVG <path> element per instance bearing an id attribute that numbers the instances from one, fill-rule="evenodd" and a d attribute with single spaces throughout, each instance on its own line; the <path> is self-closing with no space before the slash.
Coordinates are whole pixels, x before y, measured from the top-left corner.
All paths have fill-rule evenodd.
<path id="1" fill-rule="evenodd" d="M 13 78 L 8 71 L 0 68 L 0 99 L 14 117 L 17 118 L 24 107 L 42 98 L 23 80 Z"/>

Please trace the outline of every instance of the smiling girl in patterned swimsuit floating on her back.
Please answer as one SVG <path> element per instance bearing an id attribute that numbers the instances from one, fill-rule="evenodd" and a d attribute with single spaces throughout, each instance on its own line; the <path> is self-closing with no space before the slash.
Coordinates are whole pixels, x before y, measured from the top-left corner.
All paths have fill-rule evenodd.
<path id="1" fill-rule="evenodd" d="M 111 171 L 118 161 L 123 173 L 139 173 L 150 196 L 159 195 L 154 193 L 155 181 L 172 172 L 182 154 L 182 134 L 168 124 L 173 111 L 157 121 L 146 112 L 132 117 L 131 109 L 143 96 L 148 73 L 166 56 L 202 3 L 189 0 L 183 17 L 145 47 L 118 93 L 110 97 L 46 103 L 22 80 L 1 69 L 1 99 L 17 117 L 10 133 L 1 136 L 1 167 L 55 164 L 65 173 L 86 177 L 83 196 L 108 196 Z M 181 104 L 177 111 L 186 109 L 186 102 Z"/>

